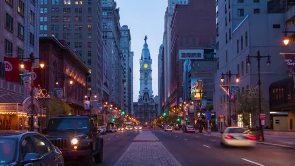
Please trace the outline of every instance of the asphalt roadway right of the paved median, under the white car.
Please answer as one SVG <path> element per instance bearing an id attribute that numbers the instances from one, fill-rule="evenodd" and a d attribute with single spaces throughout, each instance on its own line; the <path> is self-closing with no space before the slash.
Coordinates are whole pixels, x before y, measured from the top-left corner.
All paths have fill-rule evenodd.
<path id="1" fill-rule="evenodd" d="M 152 130 L 182 166 L 295 166 L 295 150 L 258 144 L 224 148 L 220 138 L 197 133 Z"/>

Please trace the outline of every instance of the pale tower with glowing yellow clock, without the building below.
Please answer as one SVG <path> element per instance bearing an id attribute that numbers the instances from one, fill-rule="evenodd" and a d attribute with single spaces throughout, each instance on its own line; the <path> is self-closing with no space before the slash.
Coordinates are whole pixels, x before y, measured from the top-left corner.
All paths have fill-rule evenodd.
<path id="1" fill-rule="evenodd" d="M 144 93 L 148 92 L 149 96 L 152 96 L 152 78 L 151 78 L 151 59 L 150 59 L 150 53 L 148 50 L 148 44 L 147 44 L 148 37 L 145 37 L 145 44 L 144 48 L 141 52 L 141 58 L 140 58 L 140 91 L 139 95 L 142 96 Z"/>

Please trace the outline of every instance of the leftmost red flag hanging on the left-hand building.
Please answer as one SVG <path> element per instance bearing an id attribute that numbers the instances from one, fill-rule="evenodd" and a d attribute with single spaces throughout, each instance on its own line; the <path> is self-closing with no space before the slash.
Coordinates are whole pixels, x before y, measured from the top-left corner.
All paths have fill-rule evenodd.
<path id="1" fill-rule="evenodd" d="M 4 57 L 5 65 L 5 81 L 7 82 L 19 82 L 19 60 L 16 58 Z"/>

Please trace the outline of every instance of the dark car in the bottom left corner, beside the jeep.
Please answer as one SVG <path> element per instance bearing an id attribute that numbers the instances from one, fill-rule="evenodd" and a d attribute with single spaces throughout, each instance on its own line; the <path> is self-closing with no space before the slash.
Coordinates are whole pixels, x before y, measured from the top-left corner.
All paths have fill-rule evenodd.
<path id="1" fill-rule="evenodd" d="M 62 152 L 42 134 L 0 131 L 0 165 L 64 166 Z"/>

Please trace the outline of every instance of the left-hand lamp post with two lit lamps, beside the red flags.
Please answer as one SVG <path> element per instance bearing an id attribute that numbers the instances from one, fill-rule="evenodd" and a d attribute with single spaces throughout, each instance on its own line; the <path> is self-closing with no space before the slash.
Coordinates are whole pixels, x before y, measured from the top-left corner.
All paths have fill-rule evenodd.
<path id="1" fill-rule="evenodd" d="M 30 54 L 30 58 L 23 58 L 31 61 L 31 125 L 30 125 L 30 130 L 34 131 L 34 116 L 37 116 L 34 110 L 34 104 L 33 104 L 33 99 L 34 99 L 34 94 L 33 94 L 33 89 L 34 89 L 34 63 L 36 59 L 41 59 L 41 58 L 35 58 L 33 52 Z M 41 68 L 43 68 L 45 65 L 44 63 L 39 64 Z M 25 68 L 25 65 L 23 62 L 20 64 L 20 68 Z M 29 115 L 29 113 L 28 113 Z"/>

